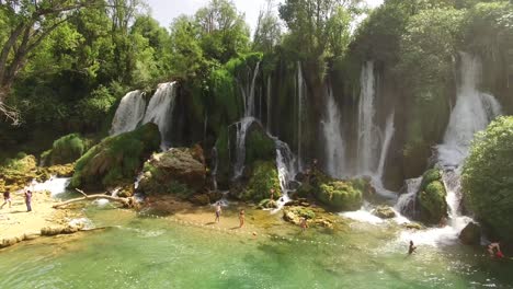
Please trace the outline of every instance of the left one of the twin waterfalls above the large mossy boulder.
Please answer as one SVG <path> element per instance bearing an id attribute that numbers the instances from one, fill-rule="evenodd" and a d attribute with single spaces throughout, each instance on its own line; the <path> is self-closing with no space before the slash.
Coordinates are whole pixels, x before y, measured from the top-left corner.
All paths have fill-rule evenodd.
<path id="1" fill-rule="evenodd" d="M 130 91 L 121 100 L 112 120 L 111 136 L 134 130 L 145 117 L 146 101 L 141 91 Z"/>

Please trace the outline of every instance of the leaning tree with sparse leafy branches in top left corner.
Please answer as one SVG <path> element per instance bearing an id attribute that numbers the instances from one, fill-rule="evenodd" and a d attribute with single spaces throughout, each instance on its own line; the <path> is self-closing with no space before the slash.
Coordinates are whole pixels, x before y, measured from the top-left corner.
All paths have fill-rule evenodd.
<path id="1" fill-rule="evenodd" d="M 35 48 L 81 8 L 95 4 L 96 0 L 0 1 L 0 13 L 9 30 L 0 51 L 0 113 L 12 123 L 18 124 L 19 114 L 7 106 L 5 100 Z"/>

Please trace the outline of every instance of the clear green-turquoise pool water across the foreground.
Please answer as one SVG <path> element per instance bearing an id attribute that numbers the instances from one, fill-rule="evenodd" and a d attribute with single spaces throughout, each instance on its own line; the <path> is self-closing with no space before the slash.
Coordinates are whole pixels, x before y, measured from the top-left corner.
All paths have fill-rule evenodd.
<path id="1" fill-rule="evenodd" d="M 282 240 L 116 210 L 88 215 L 116 227 L 0 252 L 0 288 L 513 288 L 511 263 L 456 245 L 407 257 L 386 226 L 288 230 Z"/>

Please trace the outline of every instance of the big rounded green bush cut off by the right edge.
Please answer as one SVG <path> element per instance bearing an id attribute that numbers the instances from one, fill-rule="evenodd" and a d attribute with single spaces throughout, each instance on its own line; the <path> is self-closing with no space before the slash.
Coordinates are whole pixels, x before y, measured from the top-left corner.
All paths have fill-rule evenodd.
<path id="1" fill-rule="evenodd" d="M 479 132 L 463 171 L 465 201 L 497 236 L 513 240 L 513 117 Z"/>

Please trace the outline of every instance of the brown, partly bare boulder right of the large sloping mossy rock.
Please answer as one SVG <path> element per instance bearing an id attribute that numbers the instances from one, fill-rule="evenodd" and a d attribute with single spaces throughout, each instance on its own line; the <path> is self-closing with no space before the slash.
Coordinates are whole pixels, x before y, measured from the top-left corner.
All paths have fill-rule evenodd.
<path id="1" fill-rule="evenodd" d="M 147 194 L 190 196 L 204 188 L 205 159 L 200 146 L 155 153 L 145 163 L 139 188 Z"/>

